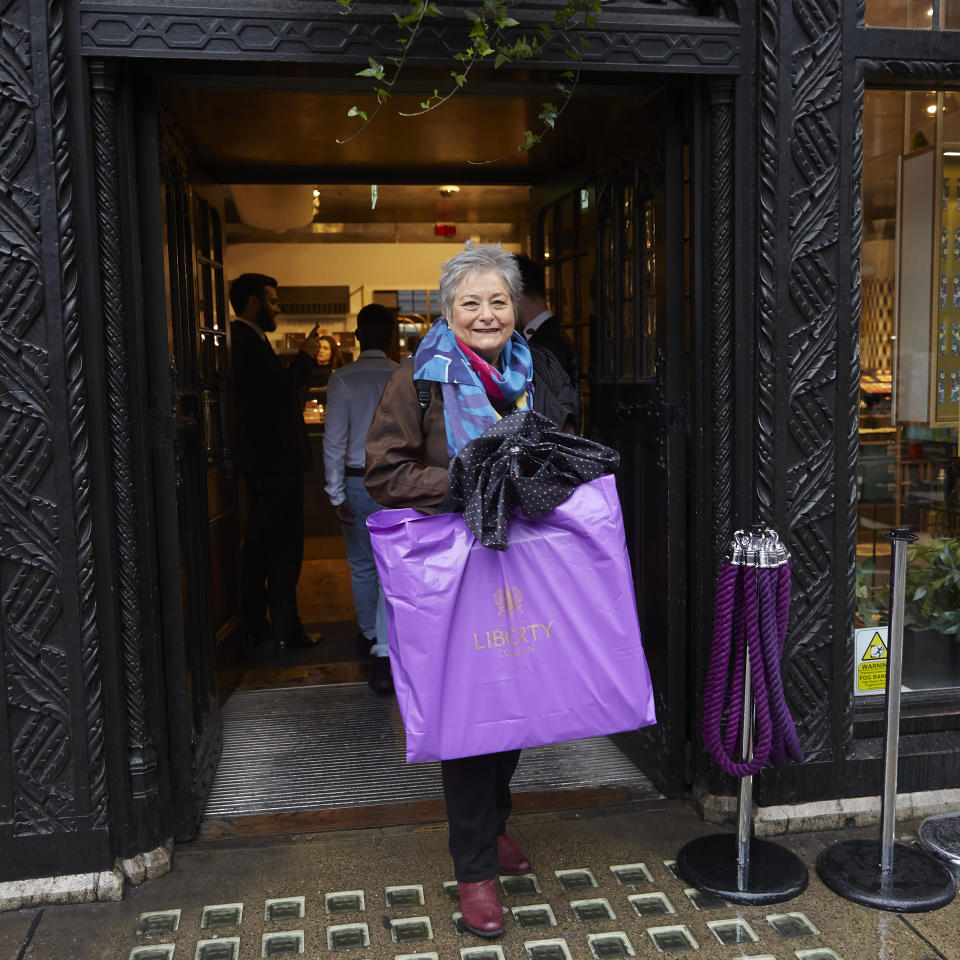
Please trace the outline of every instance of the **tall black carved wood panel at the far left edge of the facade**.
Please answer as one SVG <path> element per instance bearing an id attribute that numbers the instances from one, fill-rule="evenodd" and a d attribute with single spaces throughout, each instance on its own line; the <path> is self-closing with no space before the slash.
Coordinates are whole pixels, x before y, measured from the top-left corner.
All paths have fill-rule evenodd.
<path id="1" fill-rule="evenodd" d="M 0 0 L 0 821 L 20 838 L 108 813 L 64 42 L 59 0 Z"/>

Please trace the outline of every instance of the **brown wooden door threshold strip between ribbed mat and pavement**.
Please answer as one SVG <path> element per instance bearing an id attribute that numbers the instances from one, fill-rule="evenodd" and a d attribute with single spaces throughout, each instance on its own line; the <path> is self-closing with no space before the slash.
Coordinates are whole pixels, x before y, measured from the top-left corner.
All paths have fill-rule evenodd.
<path id="1" fill-rule="evenodd" d="M 546 813 L 580 807 L 603 807 L 649 800 L 650 792 L 632 787 L 589 787 L 513 794 L 513 813 Z M 415 823 L 442 823 L 447 819 L 443 800 L 367 804 L 325 810 L 293 810 L 249 816 L 220 817 L 200 824 L 197 840 L 235 840 L 252 837 L 396 827 Z"/>

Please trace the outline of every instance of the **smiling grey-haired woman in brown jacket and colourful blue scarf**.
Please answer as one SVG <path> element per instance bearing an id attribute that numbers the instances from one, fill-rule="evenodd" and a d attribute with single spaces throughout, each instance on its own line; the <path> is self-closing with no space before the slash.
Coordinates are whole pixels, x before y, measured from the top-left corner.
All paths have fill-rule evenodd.
<path id="1" fill-rule="evenodd" d="M 444 316 L 391 378 L 367 435 L 366 486 L 378 503 L 442 512 L 451 458 L 501 417 L 532 407 L 561 427 L 575 418 L 562 368 L 515 332 L 521 292 L 516 261 L 499 247 L 468 245 L 444 265 Z M 519 759 L 510 750 L 440 764 L 463 922 L 483 937 L 503 932 L 497 874 L 530 869 L 506 832 Z"/>

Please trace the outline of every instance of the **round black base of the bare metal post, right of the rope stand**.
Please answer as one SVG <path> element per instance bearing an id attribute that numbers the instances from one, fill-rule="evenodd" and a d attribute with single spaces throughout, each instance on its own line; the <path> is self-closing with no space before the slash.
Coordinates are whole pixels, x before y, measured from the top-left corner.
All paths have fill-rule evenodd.
<path id="1" fill-rule="evenodd" d="M 916 847 L 894 844 L 893 871 L 886 882 L 881 882 L 880 861 L 879 840 L 843 840 L 820 854 L 817 873 L 834 893 L 877 910 L 936 910 L 956 895 L 947 867 Z"/>

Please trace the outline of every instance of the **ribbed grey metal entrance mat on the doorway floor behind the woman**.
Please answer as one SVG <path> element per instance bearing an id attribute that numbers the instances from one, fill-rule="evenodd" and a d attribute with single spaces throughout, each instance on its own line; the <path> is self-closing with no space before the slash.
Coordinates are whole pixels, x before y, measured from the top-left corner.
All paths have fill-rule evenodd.
<path id="1" fill-rule="evenodd" d="M 393 697 L 366 684 L 237 691 L 223 707 L 223 752 L 205 817 L 433 800 L 437 763 L 406 763 Z M 606 737 L 523 752 L 515 793 L 628 787 L 650 781 Z"/>

